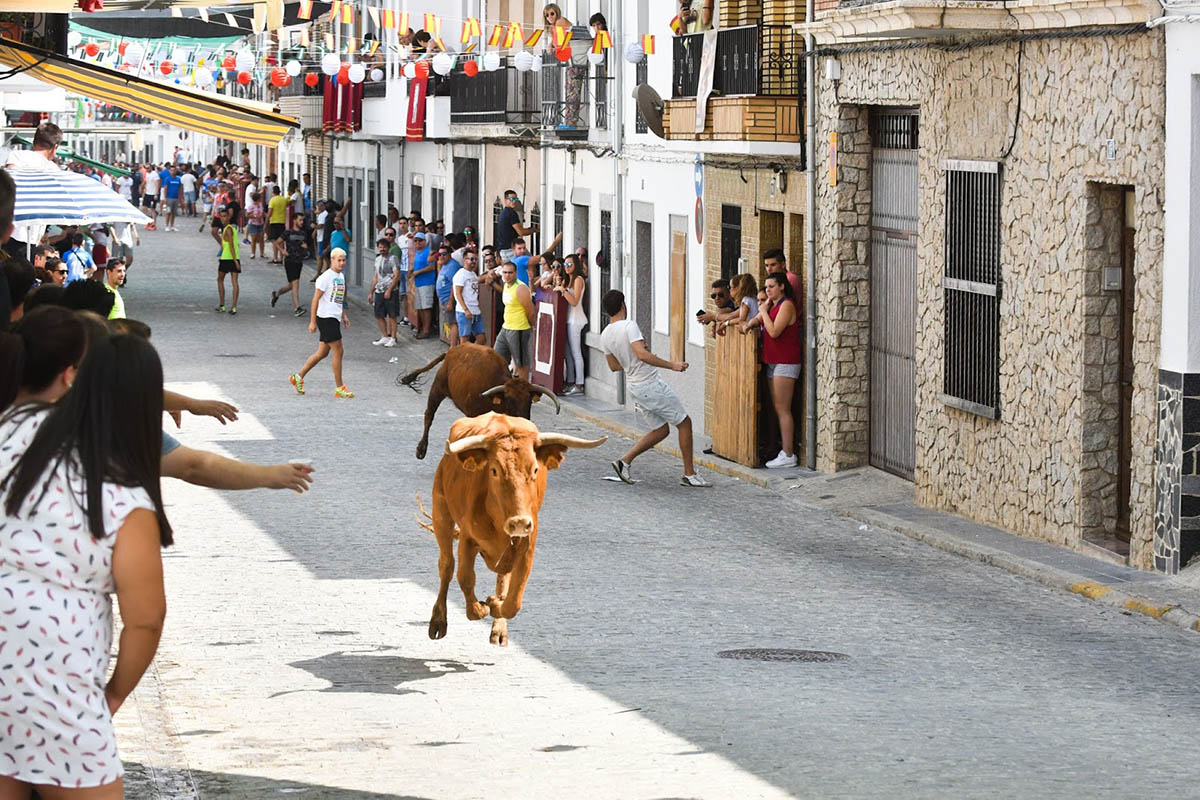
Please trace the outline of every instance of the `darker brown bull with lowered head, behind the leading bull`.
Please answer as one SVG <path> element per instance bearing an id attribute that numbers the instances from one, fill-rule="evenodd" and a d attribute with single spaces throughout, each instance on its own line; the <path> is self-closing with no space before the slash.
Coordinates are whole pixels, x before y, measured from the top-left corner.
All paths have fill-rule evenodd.
<path id="1" fill-rule="evenodd" d="M 425 407 L 425 432 L 416 445 L 416 457 L 425 458 L 430 446 L 430 426 L 442 401 L 449 397 L 467 416 L 479 416 L 488 411 L 520 416 L 528 420 L 533 404 L 545 395 L 554 401 L 554 413 L 562 405 L 554 393 L 530 384 L 522 378 L 509 377 L 509 365 L 499 353 L 482 344 L 460 344 L 450 348 L 427 365 L 396 379 L 397 384 L 418 391 L 418 378 L 442 365 L 430 387 L 430 402 Z"/>

